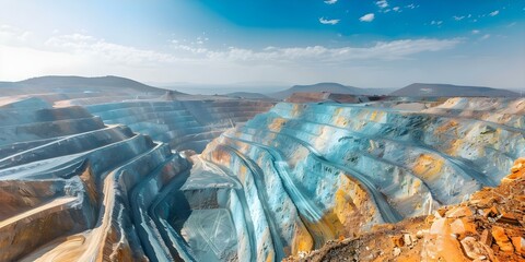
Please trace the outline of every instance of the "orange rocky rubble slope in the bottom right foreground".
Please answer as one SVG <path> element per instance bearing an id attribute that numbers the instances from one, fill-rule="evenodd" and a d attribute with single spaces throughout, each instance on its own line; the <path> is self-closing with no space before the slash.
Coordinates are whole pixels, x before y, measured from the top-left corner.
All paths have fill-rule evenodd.
<path id="1" fill-rule="evenodd" d="M 525 261 L 525 158 L 497 188 L 288 261 Z"/>

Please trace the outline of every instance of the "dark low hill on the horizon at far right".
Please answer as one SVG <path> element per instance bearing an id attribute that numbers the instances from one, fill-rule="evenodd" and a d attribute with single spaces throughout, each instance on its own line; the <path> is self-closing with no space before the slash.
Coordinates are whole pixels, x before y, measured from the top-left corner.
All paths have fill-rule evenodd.
<path id="1" fill-rule="evenodd" d="M 451 84 L 423 84 L 416 83 L 390 93 L 390 96 L 487 96 L 504 97 L 520 96 L 517 93 L 508 90 L 498 90 L 482 86 L 463 86 Z"/>

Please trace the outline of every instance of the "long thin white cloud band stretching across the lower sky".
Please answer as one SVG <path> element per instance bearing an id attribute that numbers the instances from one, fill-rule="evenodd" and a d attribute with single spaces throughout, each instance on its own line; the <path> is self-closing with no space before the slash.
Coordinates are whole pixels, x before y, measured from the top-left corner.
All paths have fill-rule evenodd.
<path id="1" fill-rule="evenodd" d="M 261 50 L 230 47 L 223 50 L 211 50 L 198 44 L 180 44 L 172 40 L 172 52 L 159 52 L 113 44 L 93 36 L 73 34 L 51 37 L 46 41 L 46 45 L 57 50 L 61 49 L 62 52 L 96 59 L 101 63 L 149 67 L 179 62 L 243 63 L 250 61 L 254 64 L 275 62 L 302 64 L 369 59 L 397 60 L 407 59 L 411 55 L 419 52 L 450 49 L 459 43 L 462 40 L 457 38 L 405 39 L 380 41 L 369 47 L 267 47 Z"/>

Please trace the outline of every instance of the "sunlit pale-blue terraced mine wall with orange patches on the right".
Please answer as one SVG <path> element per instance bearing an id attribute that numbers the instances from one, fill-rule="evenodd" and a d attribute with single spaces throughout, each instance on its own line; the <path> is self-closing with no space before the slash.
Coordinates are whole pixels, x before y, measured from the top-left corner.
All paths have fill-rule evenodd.
<path id="1" fill-rule="evenodd" d="M 525 153 L 523 99 L 402 104 L 281 103 L 207 146 L 201 158 L 250 202 L 252 255 L 280 260 L 429 215 L 499 184 Z"/>

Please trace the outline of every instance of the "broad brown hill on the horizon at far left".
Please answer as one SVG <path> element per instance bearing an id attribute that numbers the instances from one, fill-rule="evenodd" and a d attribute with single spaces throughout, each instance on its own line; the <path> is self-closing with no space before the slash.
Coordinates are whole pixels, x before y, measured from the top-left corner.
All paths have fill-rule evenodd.
<path id="1" fill-rule="evenodd" d="M 20 82 L 1 82 L 2 93 L 78 93 L 78 92 L 126 92 L 126 93 L 159 93 L 164 88 L 150 86 L 135 80 L 119 76 L 40 76 Z M 177 94 L 183 94 L 176 92 Z"/>

